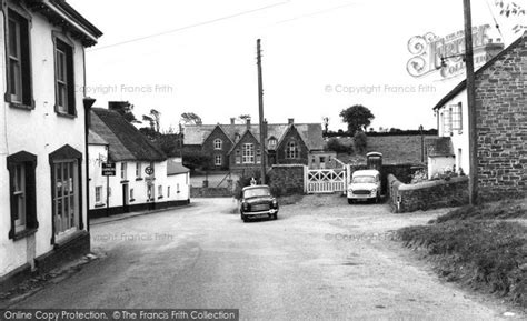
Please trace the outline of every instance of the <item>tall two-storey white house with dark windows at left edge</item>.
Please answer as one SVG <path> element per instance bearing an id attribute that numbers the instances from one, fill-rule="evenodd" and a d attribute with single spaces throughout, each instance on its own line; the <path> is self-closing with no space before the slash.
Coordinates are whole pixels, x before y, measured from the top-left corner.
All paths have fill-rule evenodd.
<path id="1" fill-rule="evenodd" d="M 8 287 L 90 249 L 91 100 L 79 88 L 84 49 L 102 33 L 66 1 L 1 3 L 0 284 Z"/>

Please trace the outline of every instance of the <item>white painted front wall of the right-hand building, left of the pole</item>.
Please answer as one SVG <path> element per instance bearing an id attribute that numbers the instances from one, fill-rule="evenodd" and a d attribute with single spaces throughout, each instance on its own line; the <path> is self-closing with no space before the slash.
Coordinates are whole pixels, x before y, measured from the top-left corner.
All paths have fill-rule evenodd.
<path id="1" fill-rule="evenodd" d="M 463 110 L 463 130 L 454 130 L 454 132 L 447 133 L 444 132 L 444 123 L 441 119 L 441 113 L 449 108 L 450 104 L 457 104 L 461 102 L 461 110 Z M 454 97 L 450 101 L 448 101 L 444 107 L 437 110 L 437 117 L 439 118 L 439 136 L 440 137 L 450 137 L 454 153 L 456 156 L 455 164 L 456 171 L 459 171 L 459 167 L 463 168 L 463 171 L 468 174 L 470 171 L 469 159 L 468 159 L 468 107 L 467 107 L 467 91 L 464 90 Z M 460 150 L 460 153 L 459 153 Z"/>

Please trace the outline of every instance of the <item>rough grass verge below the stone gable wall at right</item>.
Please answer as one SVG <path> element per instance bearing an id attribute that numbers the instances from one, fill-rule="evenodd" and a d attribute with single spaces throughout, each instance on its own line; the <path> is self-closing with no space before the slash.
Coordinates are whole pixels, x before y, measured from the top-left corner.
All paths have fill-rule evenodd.
<path id="1" fill-rule="evenodd" d="M 509 204 L 460 208 L 428 225 L 401 229 L 397 238 L 422 250 L 447 281 L 527 309 L 527 227 L 496 219 L 525 215 L 518 214 L 515 202 Z"/>

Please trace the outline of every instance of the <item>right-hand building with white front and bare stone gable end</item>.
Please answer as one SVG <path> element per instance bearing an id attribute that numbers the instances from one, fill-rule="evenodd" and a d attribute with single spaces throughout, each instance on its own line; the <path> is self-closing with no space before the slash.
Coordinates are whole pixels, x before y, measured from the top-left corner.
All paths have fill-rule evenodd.
<path id="1" fill-rule="evenodd" d="M 476 71 L 479 194 L 527 194 L 527 32 Z M 451 165 L 469 173 L 466 81 L 434 108 L 440 137 L 451 140 Z"/>

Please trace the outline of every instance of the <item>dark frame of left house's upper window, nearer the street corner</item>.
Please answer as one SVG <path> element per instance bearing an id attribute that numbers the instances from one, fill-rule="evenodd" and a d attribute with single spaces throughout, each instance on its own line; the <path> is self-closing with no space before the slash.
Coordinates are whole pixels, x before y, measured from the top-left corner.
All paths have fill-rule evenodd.
<path id="1" fill-rule="evenodd" d="M 53 39 L 53 60 L 54 60 L 54 112 L 58 116 L 67 118 L 77 118 L 77 108 L 76 108 L 76 84 L 74 84 L 74 44 L 73 41 L 69 40 L 62 33 L 57 31 L 52 32 Z M 66 79 L 59 77 L 59 53 L 64 54 Z M 66 90 L 66 102 L 64 107 L 59 104 L 60 92 L 59 89 L 61 86 L 64 86 Z M 61 108 L 66 108 L 63 111 Z"/>

